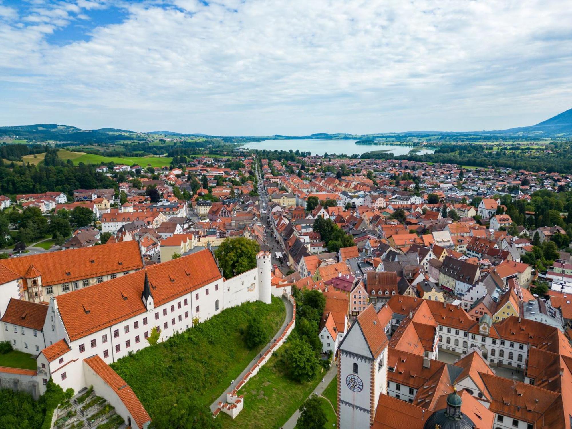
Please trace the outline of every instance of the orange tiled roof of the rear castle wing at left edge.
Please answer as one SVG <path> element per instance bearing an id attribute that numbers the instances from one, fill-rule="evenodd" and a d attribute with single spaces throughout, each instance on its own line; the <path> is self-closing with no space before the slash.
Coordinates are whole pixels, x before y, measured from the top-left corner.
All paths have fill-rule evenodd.
<path id="1" fill-rule="evenodd" d="M 3 259 L 0 260 L 0 265 L 17 273 L 20 277 L 41 275 L 42 285 L 49 286 L 140 269 L 143 267 L 143 261 L 137 241 L 122 241 Z M 6 281 L 0 277 L 1 283 L 6 283 Z M 27 288 L 26 283 L 24 288 Z"/>

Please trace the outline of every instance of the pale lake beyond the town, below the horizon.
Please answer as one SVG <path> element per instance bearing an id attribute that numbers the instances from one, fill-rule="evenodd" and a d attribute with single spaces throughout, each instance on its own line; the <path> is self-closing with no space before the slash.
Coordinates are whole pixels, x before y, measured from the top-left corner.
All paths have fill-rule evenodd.
<path id="1" fill-rule="evenodd" d="M 414 146 L 398 146 L 391 143 L 384 145 L 356 145 L 357 140 L 320 140 L 317 138 L 309 139 L 292 139 L 292 140 L 263 140 L 252 141 L 241 147 L 245 149 L 259 150 L 300 150 L 300 152 L 310 152 L 312 155 L 323 155 L 324 153 L 344 153 L 352 155 L 357 153 L 371 152 L 372 150 L 387 150 L 394 155 L 405 155 L 409 153 Z M 419 155 L 426 153 L 434 153 L 435 149 L 422 149 L 417 152 Z"/>

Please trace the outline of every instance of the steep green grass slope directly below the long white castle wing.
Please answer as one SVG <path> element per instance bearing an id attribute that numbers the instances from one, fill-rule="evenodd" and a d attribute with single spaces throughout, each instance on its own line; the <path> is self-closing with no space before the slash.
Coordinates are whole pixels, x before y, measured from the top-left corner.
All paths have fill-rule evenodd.
<path id="1" fill-rule="evenodd" d="M 111 366 L 131 386 L 151 418 L 162 400 L 177 394 L 210 406 L 262 348 L 245 345 L 243 333 L 252 315 L 260 316 L 274 335 L 284 322 L 286 309 L 276 297 L 270 305 L 256 301 L 228 308 Z"/>

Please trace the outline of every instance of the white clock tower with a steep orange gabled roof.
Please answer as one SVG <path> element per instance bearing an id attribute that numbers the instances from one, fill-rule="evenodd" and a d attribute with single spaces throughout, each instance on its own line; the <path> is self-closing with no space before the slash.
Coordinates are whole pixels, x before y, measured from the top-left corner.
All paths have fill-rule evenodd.
<path id="1" fill-rule="evenodd" d="M 349 328 L 339 347 L 337 426 L 368 428 L 380 394 L 387 394 L 387 335 L 373 305 Z"/>

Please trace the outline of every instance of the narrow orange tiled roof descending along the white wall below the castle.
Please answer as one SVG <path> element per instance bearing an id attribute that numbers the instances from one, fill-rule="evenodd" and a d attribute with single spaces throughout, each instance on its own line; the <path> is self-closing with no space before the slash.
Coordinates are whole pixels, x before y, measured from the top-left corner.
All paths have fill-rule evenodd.
<path id="1" fill-rule="evenodd" d="M 135 420 L 137 427 L 143 427 L 144 423 L 150 422 L 151 418 L 148 412 L 143 408 L 129 384 L 125 383 L 125 380 L 113 371 L 100 356 L 90 356 L 84 359 L 84 362 L 113 389 L 119 399 L 121 399 L 121 402 L 124 403 L 133 420 Z"/>

